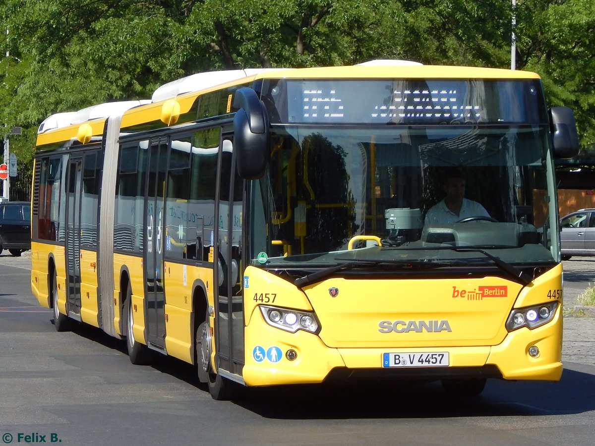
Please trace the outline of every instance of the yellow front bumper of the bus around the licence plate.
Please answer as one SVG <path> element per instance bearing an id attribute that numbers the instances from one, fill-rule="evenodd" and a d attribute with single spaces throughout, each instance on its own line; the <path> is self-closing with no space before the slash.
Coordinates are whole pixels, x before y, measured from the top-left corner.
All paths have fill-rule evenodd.
<path id="1" fill-rule="evenodd" d="M 246 327 L 244 382 L 248 386 L 315 384 L 347 378 L 442 379 L 453 377 L 558 381 L 562 375 L 560 312 L 533 330 L 508 333 L 497 346 L 434 348 L 331 348 L 306 331 L 286 332 L 253 318 Z M 530 347 L 534 356 L 530 354 Z M 448 352 L 446 367 L 384 368 L 391 352 Z M 295 359 L 290 359 L 295 354 Z"/>

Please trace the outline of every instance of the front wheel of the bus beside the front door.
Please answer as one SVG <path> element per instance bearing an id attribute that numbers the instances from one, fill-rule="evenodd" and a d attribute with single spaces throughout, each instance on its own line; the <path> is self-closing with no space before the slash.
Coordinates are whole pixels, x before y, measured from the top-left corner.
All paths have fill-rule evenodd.
<path id="1" fill-rule="evenodd" d="M 211 327 L 209 314 L 196 330 L 196 362 L 198 363 L 198 379 L 206 382 L 211 398 L 217 401 L 231 400 L 237 395 L 238 385 L 218 375 L 211 366 Z"/>

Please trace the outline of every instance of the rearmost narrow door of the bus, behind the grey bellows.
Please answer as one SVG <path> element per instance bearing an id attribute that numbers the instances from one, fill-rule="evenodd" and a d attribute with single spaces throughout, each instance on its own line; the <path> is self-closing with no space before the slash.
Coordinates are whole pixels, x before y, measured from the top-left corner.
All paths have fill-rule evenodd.
<path id="1" fill-rule="evenodd" d="M 68 162 L 68 188 L 66 191 L 66 275 L 68 313 L 80 315 L 80 197 L 83 158 L 70 158 Z"/>

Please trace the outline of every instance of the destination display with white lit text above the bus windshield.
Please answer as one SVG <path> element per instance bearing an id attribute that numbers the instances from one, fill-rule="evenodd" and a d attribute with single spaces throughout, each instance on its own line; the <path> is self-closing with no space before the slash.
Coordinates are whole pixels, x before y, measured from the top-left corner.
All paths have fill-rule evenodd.
<path id="1" fill-rule="evenodd" d="M 271 123 L 547 123 L 535 79 L 282 79 L 265 103 Z"/>

